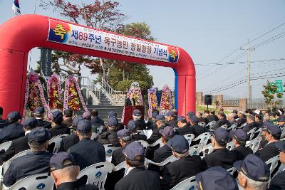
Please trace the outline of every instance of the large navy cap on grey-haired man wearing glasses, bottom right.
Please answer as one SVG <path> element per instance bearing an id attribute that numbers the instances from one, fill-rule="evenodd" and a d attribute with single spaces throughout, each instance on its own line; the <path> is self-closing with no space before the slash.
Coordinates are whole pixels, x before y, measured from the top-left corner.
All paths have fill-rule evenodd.
<path id="1" fill-rule="evenodd" d="M 234 162 L 234 167 L 254 181 L 269 180 L 269 166 L 254 154 L 248 154 L 244 160 Z"/>

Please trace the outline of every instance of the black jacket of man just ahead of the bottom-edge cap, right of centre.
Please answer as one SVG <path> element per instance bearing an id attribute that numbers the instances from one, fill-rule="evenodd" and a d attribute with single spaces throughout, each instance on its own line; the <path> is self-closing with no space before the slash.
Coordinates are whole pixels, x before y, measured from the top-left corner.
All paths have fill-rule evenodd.
<path id="1" fill-rule="evenodd" d="M 229 169 L 232 167 L 232 164 L 235 162 L 235 157 L 232 152 L 229 152 L 228 149 L 214 149 L 210 154 L 207 154 L 203 160 L 204 169 L 210 167 L 223 167 L 224 169 Z"/>

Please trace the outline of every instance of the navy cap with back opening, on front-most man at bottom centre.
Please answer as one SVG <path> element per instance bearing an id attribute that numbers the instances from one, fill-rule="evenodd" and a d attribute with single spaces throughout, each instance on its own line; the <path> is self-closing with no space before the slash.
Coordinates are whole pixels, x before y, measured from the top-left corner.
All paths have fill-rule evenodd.
<path id="1" fill-rule="evenodd" d="M 140 160 L 145 157 L 145 148 L 138 142 L 131 142 L 125 147 L 125 149 L 123 149 L 122 152 L 125 154 L 125 157 L 133 161 Z M 138 156 L 140 159 L 138 159 Z"/>

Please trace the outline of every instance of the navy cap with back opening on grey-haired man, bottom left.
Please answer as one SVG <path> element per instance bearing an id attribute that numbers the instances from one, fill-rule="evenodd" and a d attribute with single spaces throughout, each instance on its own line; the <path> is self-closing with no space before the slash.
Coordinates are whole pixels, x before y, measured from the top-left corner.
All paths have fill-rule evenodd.
<path id="1" fill-rule="evenodd" d="M 71 163 L 64 164 L 64 161 L 66 160 L 69 160 Z M 59 152 L 51 157 L 49 165 L 51 167 L 51 171 L 54 171 L 57 169 L 63 169 L 65 167 L 76 166 L 77 164 L 72 154 L 67 152 Z"/>

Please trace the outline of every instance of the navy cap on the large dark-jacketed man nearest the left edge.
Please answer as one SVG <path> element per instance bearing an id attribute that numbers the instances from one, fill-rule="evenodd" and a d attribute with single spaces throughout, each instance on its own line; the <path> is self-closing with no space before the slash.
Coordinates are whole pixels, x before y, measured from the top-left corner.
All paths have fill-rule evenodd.
<path id="1" fill-rule="evenodd" d="M 51 138 L 51 132 L 46 130 L 45 127 L 36 127 L 35 129 L 31 130 L 30 133 L 28 133 L 28 142 L 38 142 L 43 143 L 48 141 L 48 139 Z"/>

